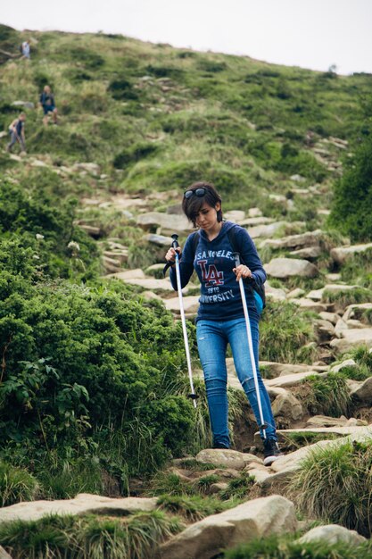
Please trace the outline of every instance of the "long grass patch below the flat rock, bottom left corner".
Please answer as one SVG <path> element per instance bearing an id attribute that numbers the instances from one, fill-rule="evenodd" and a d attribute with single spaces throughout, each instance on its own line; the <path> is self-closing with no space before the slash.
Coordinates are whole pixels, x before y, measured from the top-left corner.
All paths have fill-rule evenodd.
<path id="1" fill-rule="evenodd" d="M 3 522 L 0 541 L 13 559 L 151 559 L 161 541 L 182 528 L 178 518 L 158 510 L 121 519 L 48 516 L 39 521 Z"/>

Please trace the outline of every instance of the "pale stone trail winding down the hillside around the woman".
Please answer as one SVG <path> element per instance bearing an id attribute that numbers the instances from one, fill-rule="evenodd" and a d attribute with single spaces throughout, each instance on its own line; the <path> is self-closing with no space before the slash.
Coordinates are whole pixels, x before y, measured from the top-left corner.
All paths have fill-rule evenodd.
<path id="1" fill-rule="evenodd" d="M 73 171 L 60 169 L 59 172 L 87 172 L 100 178 L 98 167 L 92 165 L 94 164 L 80 164 L 75 166 Z M 101 177 L 101 180 L 104 180 L 104 177 Z M 310 190 L 302 193 L 302 196 L 311 195 Z M 168 213 L 156 211 L 157 205 L 165 202 L 170 204 Z M 85 198 L 82 204 L 88 210 L 96 208 L 103 213 L 107 210 L 125 214 L 128 220 L 143 229 L 141 242 L 158 250 L 159 262 L 171 243 L 172 233 L 186 235 L 192 230 L 181 214 L 176 191 L 157 193 L 146 198 L 126 195 L 96 196 Z M 280 257 L 274 257 L 265 264 L 269 276 L 268 301 L 290 301 L 318 315 L 314 318 L 317 341 L 312 342 L 316 346 L 317 360 L 312 364 L 260 362 L 260 368 L 265 371 L 264 382 L 279 427 L 279 441 L 285 451 L 285 455 L 269 468 L 262 463 L 260 438 L 255 432 L 254 418 L 248 406 L 244 411 L 244 419 L 235 425 L 236 450 L 205 449 L 196 456 L 186 456 L 169 464 L 164 475 L 173 476 L 173 479 L 178 479 L 185 487 L 194 487 L 204 480 L 205 495 L 222 495 L 228 489 L 231 480 L 241 480 L 242 476 L 245 476 L 245 479 L 249 476 L 252 481 L 247 491 L 250 500 L 202 520 L 188 521 L 185 530 L 169 538 L 156 553 L 154 551 L 154 557 L 160 556 L 162 559 L 172 559 L 176 556 L 178 559 L 217 557 L 222 548 L 236 546 L 251 538 L 267 537 L 269 534 L 283 531 L 294 532 L 299 530 L 300 526 L 302 529 L 306 528 L 306 522 L 301 523 L 297 520 L 295 507 L 285 496 L 285 488 L 300 467 L 303 458 L 315 447 L 337 446 L 346 439 L 362 441 L 372 436 L 372 377 L 367 380 L 347 380 L 352 402 L 352 413 L 349 416 L 327 417 L 317 413 L 311 414 L 304 404 L 306 394 L 302 388 L 303 380 L 308 377 L 313 378 L 315 375 L 324 379 L 331 373 L 341 371 L 345 366 L 356 366 L 352 359 L 340 361 L 339 357 L 345 351 L 360 345 L 367 346 L 369 352 L 372 351 L 372 327 L 363 321 L 363 312 L 372 309 L 372 301 L 346 306 L 341 300 L 334 303 L 325 301 L 325 292 L 336 293 L 353 288 L 341 280 L 339 273 L 323 274 L 324 285 L 315 290 L 270 286 L 273 279 L 311 279 L 318 276 L 317 260 L 324 250 L 323 231 L 317 229 L 272 238 L 275 231 L 291 232 L 293 223 L 265 218 L 258 208 L 252 208 L 248 215 L 240 211 L 227 212 L 225 217 L 249 229 L 259 252 L 268 248 L 281 250 Z M 162 278 L 162 263 L 154 264 L 145 271 L 142 268 L 123 269 L 122 265 L 128 263 L 128 246 L 123 244 L 122 239 L 103 239 L 99 225 L 86 220 L 84 212 L 77 223 L 100 243 L 105 278 L 116 278 L 141 288 L 145 298 L 161 300 L 175 318 L 179 318 L 178 296 L 171 288 L 169 279 Z M 329 254 L 333 268 L 340 269 L 354 254 L 362 254 L 371 247 L 372 243 L 333 247 Z M 184 290 L 184 305 L 186 317 L 192 319 L 198 306 L 197 285 L 191 284 Z M 231 358 L 227 359 L 227 371 L 229 386 L 241 390 Z M 201 371 L 194 373 L 196 376 L 201 375 Z M 188 467 L 189 463 L 193 463 L 191 469 Z M 201 465 L 200 469 L 197 464 Z M 212 464 L 213 467 L 206 470 L 205 464 Z M 51 513 L 127 515 L 137 510 L 150 511 L 160 506 L 157 497 L 146 496 L 149 487 L 141 480 L 133 480 L 129 489 L 131 496 L 128 498 L 118 498 L 113 493 L 113 496 L 79 495 L 64 501 L 19 503 L 0 509 L 0 523 L 15 519 L 37 520 Z M 307 538 L 308 541 L 346 541 L 357 545 L 363 540 L 357 532 L 332 525 L 309 530 L 302 538 Z M 0 550 L 0 557 L 6 556 L 5 552 Z"/>

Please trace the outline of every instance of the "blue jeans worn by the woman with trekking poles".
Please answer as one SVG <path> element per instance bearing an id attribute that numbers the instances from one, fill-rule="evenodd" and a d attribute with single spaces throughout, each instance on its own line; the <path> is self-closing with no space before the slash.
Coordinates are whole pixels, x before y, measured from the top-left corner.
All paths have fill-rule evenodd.
<path id="1" fill-rule="evenodd" d="M 267 389 L 259 372 L 259 323 L 250 316 L 252 345 L 259 380 L 260 401 L 265 423 L 266 438 L 277 440 L 276 425 Z M 233 321 L 198 321 L 196 337 L 199 357 L 203 366 L 205 388 L 211 418 L 213 444 L 230 445 L 227 426 L 227 367 L 226 350 L 230 344 L 237 377 L 240 380 L 257 423 L 260 425 L 259 405 L 253 380 L 247 331 L 244 318 Z M 260 430 L 261 438 L 264 438 Z"/>

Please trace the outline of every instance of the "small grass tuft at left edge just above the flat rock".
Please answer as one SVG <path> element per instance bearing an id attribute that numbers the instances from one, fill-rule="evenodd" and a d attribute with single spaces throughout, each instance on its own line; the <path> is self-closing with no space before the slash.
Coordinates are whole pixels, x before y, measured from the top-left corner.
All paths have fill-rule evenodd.
<path id="1" fill-rule="evenodd" d="M 38 481 L 29 471 L 0 462 L 0 506 L 33 501 L 39 490 Z"/>

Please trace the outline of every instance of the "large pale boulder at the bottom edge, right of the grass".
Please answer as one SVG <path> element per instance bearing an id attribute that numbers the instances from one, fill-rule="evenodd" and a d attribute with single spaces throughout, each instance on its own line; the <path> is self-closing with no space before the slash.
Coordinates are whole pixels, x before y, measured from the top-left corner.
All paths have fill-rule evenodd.
<path id="1" fill-rule="evenodd" d="M 278 495 L 261 497 L 189 526 L 161 546 L 161 559 L 211 559 L 222 549 L 294 532 L 296 527 L 291 501 Z"/>

